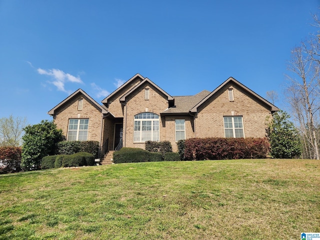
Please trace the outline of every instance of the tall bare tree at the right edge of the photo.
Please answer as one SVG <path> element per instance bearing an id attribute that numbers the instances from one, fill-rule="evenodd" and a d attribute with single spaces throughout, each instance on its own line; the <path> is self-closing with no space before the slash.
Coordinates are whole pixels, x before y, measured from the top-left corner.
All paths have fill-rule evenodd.
<path id="1" fill-rule="evenodd" d="M 320 159 L 316 132 L 318 125 L 316 116 L 320 107 L 318 85 L 320 65 L 310 55 L 309 46 L 308 43 L 303 42 L 301 47 L 295 47 L 291 51 L 288 70 L 293 74 L 287 75 L 290 84 L 286 93 L 292 113 L 299 123 L 298 129 L 303 136 L 303 141 L 310 145 L 309 157 Z"/>

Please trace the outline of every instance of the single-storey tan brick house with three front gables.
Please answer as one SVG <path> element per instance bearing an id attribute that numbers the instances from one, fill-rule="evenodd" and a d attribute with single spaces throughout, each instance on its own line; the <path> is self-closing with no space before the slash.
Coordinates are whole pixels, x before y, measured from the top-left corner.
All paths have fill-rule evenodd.
<path id="1" fill-rule="evenodd" d="M 266 117 L 278 108 L 229 77 L 212 92 L 171 96 L 140 74 L 97 103 L 78 89 L 48 111 L 67 140 L 96 140 L 103 153 L 144 148 L 146 140 L 190 137 L 264 137 Z"/>

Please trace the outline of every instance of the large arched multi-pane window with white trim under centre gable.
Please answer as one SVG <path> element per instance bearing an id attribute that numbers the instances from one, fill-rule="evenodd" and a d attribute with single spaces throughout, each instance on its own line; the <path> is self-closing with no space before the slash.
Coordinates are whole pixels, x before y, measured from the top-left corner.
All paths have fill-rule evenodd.
<path id="1" fill-rule="evenodd" d="M 159 115 L 142 112 L 134 115 L 133 142 L 159 141 Z"/>

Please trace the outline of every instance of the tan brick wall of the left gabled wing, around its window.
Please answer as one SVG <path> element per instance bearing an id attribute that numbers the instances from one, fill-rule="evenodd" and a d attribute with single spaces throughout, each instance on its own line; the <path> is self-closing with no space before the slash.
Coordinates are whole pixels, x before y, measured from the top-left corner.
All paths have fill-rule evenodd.
<path id="1" fill-rule="evenodd" d="M 80 97 L 83 97 L 82 110 L 78 110 L 78 98 Z M 66 137 L 69 118 L 89 118 L 87 139 L 100 142 L 101 117 L 102 113 L 100 109 L 92 105 L 90 100 L 79 93 L 60 108 L 56 109 L 53 120 L 57 128 L 61 128 L 63 135 Z"/>

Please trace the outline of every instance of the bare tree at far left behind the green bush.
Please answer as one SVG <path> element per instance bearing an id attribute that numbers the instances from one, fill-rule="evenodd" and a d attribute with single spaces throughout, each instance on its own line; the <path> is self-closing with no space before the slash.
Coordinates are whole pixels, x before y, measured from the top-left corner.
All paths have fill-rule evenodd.
<path id="1" fill-rule="evenodd" d="M 20 146 L 25 126 L 25 117 L 10 115 L 0 118 L 0 146 Z"/>

